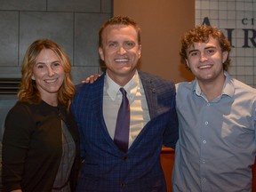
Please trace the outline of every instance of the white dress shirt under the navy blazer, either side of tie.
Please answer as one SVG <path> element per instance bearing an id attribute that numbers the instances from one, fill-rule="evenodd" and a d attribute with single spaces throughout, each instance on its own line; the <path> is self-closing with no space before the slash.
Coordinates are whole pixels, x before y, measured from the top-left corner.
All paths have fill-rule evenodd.
<path id="1" fill-rule="evenodd" d="M 112 138 L 112 140 L 114 140 L 114 135 L 116 131 L 117 113 L 122 102 L 122 93 L 119 91 L 120 87 L 121 86 L 119 84 L 116 84 L 108 76 L 107 71 L 103 92 L 103 116 L 105 124 L 108 128 L 109 136 Z M 145 92 L 137 71 L 132 79 L 124 85 L 124 90 L 127 92 L 127 98 L 130 102 L 131 110 L 129 135 L 130 148 L 132 142 L 137 138 L 142 128 L 150 120 L 150 117 Z"/>

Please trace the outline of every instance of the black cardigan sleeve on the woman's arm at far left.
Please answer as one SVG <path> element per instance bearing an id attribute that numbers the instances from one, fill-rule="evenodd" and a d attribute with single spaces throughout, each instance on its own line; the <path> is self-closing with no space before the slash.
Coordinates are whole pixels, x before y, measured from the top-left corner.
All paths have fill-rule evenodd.
<path id="1" fill-rule="evenodd" d="M 5 119 L 3 138 L 3 185 L 7 191 L 21 188 L 21 177 L 28 152 L 31 113 L 23 105 L 14 106 Z"/>

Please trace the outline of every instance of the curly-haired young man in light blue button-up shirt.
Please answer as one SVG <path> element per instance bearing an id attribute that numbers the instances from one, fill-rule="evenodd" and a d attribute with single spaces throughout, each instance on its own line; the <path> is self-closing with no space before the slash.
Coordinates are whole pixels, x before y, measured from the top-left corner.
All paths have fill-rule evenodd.
<path id="1" fill-rule="evenodd" d="M 193 28 L 181 44 L 181 61 L 196 80 L 176 86 L 173 191 L 251 191 L 256 92 L 228 75 L 231 48 L 217 28 Z"/>

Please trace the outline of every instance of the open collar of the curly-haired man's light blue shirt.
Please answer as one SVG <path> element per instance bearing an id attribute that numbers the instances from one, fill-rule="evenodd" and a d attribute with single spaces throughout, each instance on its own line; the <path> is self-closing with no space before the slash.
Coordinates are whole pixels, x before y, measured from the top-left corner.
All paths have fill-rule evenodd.
<path id="1" fill-rule="evenodd" d="M 222 95 L 228 95 L 229 97 L 232 97 L 235 93 L 235 86 L 233 84 L 233 78 L 228 74 L 227 71 L 224 71 L 224 76 L 226 76 L 223 89 L 222 89 Z M 201 91 L 200 86 L 198 84 L 198 81 L 195 80 L 194 83 L 194 92 L 196 92 L 196 95 L 203 96 L 204 93 Z"/>

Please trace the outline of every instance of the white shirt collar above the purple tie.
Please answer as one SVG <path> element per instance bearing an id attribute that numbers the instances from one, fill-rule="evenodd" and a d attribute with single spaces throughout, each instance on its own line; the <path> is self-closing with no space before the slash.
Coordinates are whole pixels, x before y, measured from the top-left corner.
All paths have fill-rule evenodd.
<path id="1" fill-rule="evenodd" d="M 136 70 L 134 76 L 132 76 L 132 79 L 124 85 L 124 90 L 127 92 L 127 97 L 129 100 L 133 100 L 138 88 L 139 88 L 139 74 L 138 71 Z M 119 92 L 120 85 L 116 84 L 110 76 L 108 76 L 108 70 L 106 72 L 106 77 L 105 77 L 105 88 L 106 92 L 108 93 L 108 96 L 111 98 L 111 100 L 116 100 L 117 92 Z"/>

